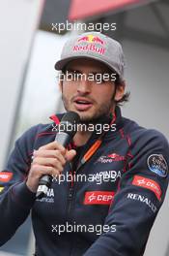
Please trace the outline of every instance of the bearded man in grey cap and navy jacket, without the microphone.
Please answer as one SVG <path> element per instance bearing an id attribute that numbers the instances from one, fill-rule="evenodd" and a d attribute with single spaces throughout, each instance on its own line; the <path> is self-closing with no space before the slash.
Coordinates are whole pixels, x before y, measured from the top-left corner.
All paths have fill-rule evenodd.
<path id="1" fill-rule="evenodd" d="M 16 141 L 0 174 L 0 244 L 32 210 L 38 256 L 143 255 L 167 189 L 169 145 L 121 115 L 124 67 L 121 45 L 98 32 L 66 43 L 55 68 L 65 109 L 83 128 L 65 148 L 54 142 L 57 114 Z M 43 175 L 52 184 L 37 199 Z"/>

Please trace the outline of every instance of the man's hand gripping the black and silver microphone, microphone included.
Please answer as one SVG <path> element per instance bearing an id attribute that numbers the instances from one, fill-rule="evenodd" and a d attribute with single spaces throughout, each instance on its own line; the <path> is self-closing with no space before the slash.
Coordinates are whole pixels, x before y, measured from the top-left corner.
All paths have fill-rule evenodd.
<path id="1" fill-rule="evenodd" d="M 60 123 L 62 132 L 57 133 L 55 141 L 41 146 L 34 152 L 26 184 L 32 192 L 37 192 L 38 198 L 42 198 L 47 193 L 52 176 L 59 176 L 63 172 L 66 162 L 71 161 L 75 156 L 75 150 L 66 150 L 65 147 L 70 144 L 75 135 L 74 123 L 78 123 L 79 119 L 76 112 L 67 112 Z M 69 125 L 73 129 L 67 130 Z"/>

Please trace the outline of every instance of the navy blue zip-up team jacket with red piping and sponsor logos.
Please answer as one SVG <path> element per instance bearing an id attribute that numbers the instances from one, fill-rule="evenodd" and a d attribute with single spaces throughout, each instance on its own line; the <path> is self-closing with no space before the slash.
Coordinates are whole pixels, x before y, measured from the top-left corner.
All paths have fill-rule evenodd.
<path id="1" fill-rule="evenodd" d="M 167 189 L 167 140 L 123 117 L 117 107 L 116 131 L 107 131 L 84 163 L 99 139 L 94 132 L 76 148 L 77 157 L 66 164 L 62 180 L 53 176 L 47 196 L 36 199 L 26 186 L 33 151 L 54 141 L 53 127 L 62 116 L 26 131 L 0 173 L 0 245 L 31 212 L 38 256 L 143 255 Z"/>

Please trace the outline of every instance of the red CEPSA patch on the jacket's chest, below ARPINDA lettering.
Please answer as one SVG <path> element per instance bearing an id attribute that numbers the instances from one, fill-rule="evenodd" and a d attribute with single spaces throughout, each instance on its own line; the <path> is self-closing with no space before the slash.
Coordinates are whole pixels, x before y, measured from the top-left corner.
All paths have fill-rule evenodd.
<path id="1" fill-rule="evenodd" d="M 88 191 L 85 194 L 84 205 L 110 205 L 114 195 L 114 191 Z"/>

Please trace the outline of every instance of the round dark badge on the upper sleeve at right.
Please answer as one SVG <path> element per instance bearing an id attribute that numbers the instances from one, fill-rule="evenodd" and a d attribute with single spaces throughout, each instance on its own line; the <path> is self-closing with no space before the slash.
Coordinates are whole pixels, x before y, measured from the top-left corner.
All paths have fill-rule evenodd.
<path id="1" fill-rule="evenodd" d="M 162 154 L 152 154 L 148 157 L 149 169 L 158 176 L 165 177 L 168 173 L 168 166 Z"/>

